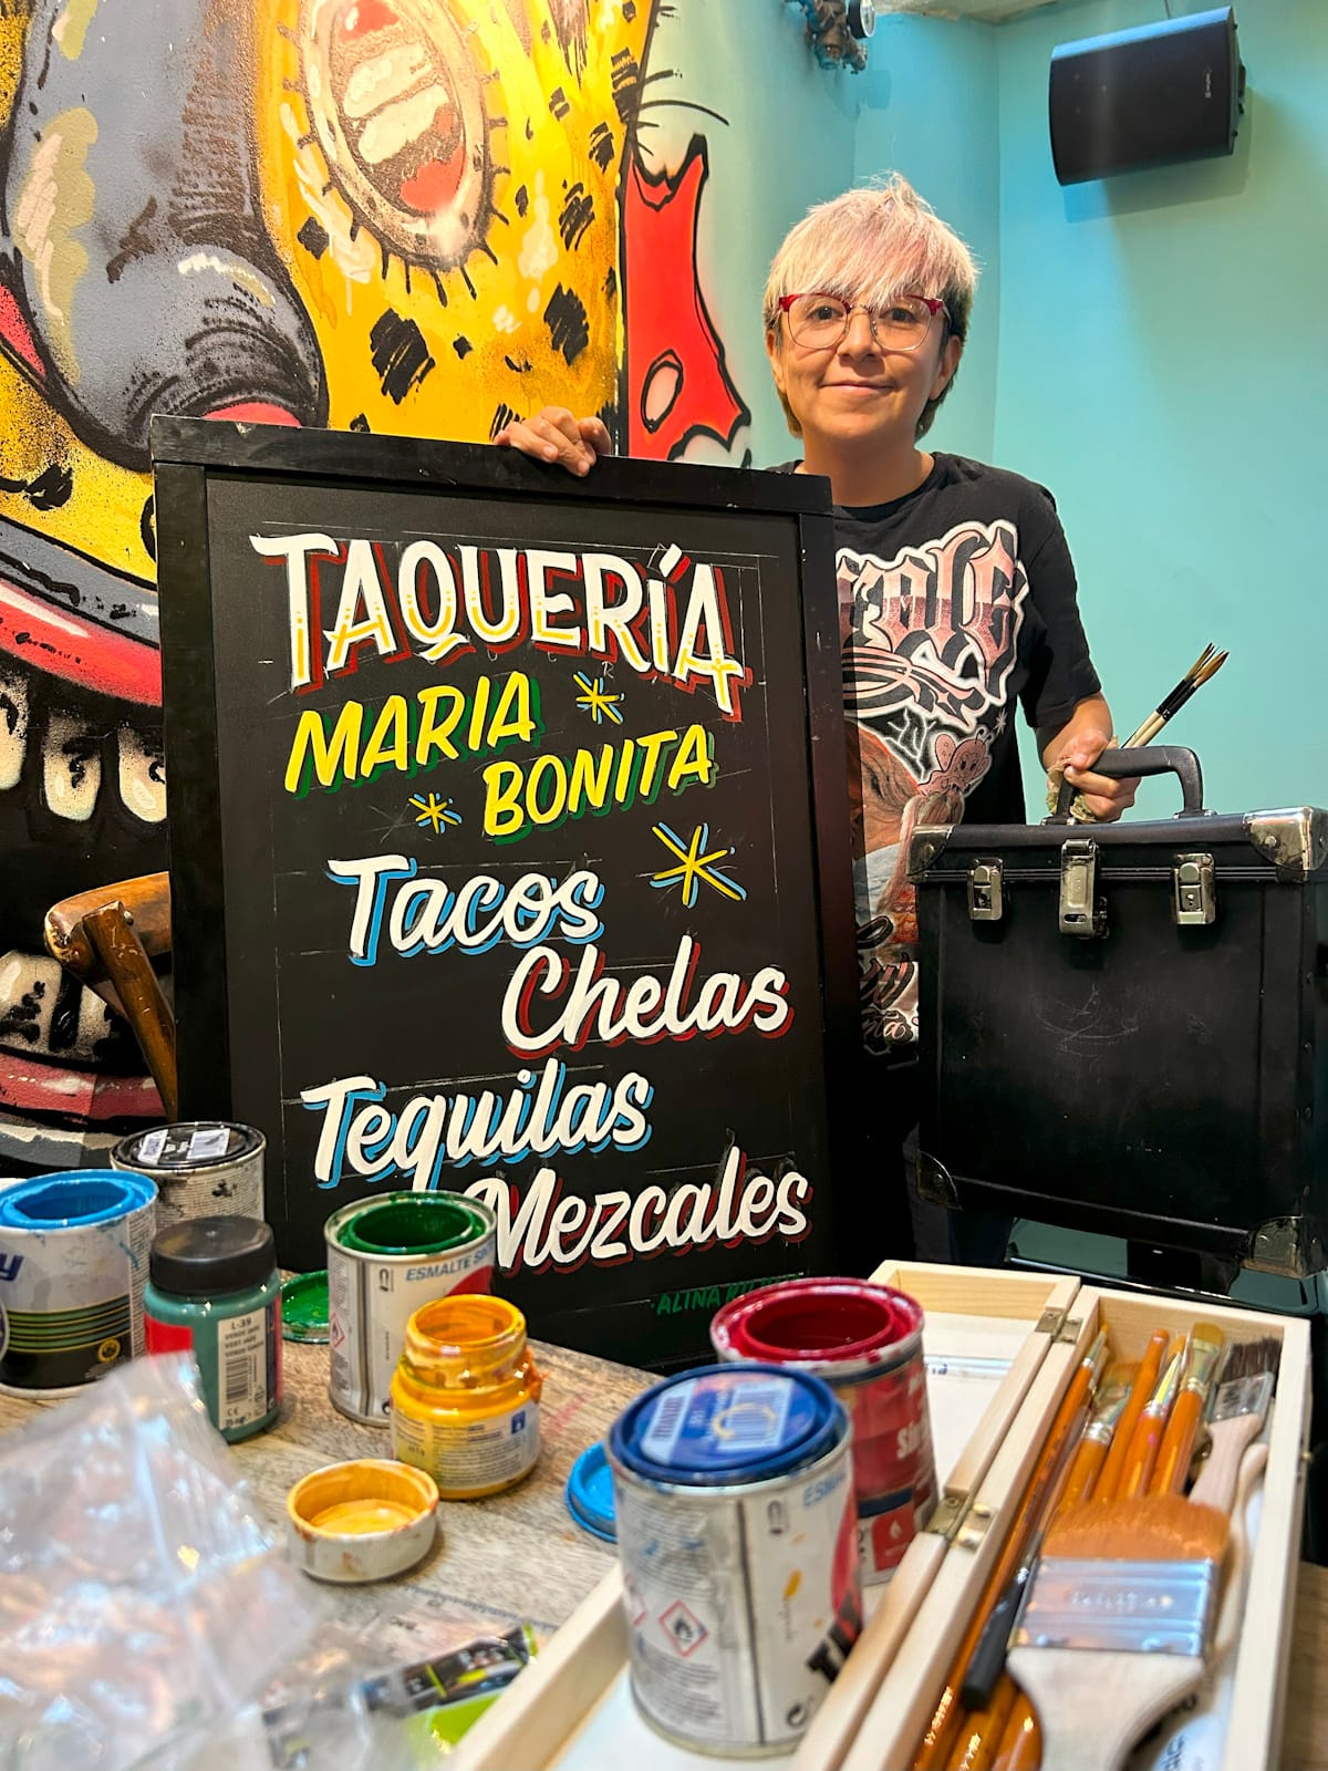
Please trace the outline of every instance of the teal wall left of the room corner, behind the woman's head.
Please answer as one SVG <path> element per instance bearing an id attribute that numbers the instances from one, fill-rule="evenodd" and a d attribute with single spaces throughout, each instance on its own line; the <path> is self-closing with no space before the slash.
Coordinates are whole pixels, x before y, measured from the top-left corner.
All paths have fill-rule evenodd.
<path id="1" fill-rule="evenodd" d="M 650 108 L 643 142 L 680 158 L 694 129 L 710 138 L 701 200 L 701 287 L 724 340 L 730 372 L 753 423 L 728 459 L 751 448 L 765 466 L 797 445 L 770 383 L 761 294 L 779 241 L 806 211 L 850 184 L 898 168 L 969 241 L 983 262 L 974 329 L 933 439 L 986 457 L 993 446 L 999 315 L 1000 188 L 997 44 L 984 25 L 885 18 L 868 69 L 823 69 L 802 12 L 777 0 L 675 0 L 650 51 Z M 668 69 L 673 78 L 655 74 Z M 724 122 L 687 106 L 719 112 Z M 981 149 L 974 152 L 974 145 Z M 705 441 L 691 452 L 721 459 Z"/>

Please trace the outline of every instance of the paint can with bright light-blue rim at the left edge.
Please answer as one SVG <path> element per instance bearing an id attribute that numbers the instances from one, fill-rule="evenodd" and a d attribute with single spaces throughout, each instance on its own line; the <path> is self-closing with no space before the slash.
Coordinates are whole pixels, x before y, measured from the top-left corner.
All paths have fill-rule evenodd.
<path id="1" fill-rule="evenodd" d="M 143 1351 L 156 1194 L 113 1169 L 0 1192 L 0 1390 L 76 1396 Z"/>

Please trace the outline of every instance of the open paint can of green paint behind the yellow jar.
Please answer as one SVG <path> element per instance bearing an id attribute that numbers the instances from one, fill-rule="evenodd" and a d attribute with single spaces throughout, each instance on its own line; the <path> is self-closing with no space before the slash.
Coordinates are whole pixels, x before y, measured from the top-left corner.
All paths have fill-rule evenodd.
<path id="1" fill-rule="evenodd" d="M 382 1194 L 333 1211 L 328 1241 L 328 1396 L 386 1426 L 405 1323 L 434 1298 L 487 1291 L 498 1218 L 464 1194 Z"/>

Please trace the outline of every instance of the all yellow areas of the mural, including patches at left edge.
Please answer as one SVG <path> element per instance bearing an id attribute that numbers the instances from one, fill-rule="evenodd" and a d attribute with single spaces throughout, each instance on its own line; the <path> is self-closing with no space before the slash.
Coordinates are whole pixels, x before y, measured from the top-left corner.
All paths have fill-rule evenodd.
<path id="1" fill-rule="evenodd" d="M 21 12 L 0 7 L 5 117 Z M 329 425 L 478 441 L 549 400 L 614 398 L 618 188 L 652 14 L 653 0 L 246 0 L 262 220 L 317 336 Z M 129 57 L 126 78 L 142 66 Z M 0 515 L 156 576 L 151 475 L 85 445 L 12 354 L 0 434 L 5 480 L 71 480 L 48 510 L 0 491 Z"/>

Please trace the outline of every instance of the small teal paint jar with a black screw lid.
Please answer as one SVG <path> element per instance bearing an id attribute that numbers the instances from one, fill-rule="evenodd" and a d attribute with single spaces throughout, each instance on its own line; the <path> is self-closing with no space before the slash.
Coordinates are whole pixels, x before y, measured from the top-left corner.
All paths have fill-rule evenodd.
<path id="1" fill-rule="evenodd" d="M 143 1316 L 149 1353 L 193 1353 L 225 1440 L 269 1427 L 282 1408 L 282 1275 L 257 1218 L 184 1218 L 158 1231 Z"/>

